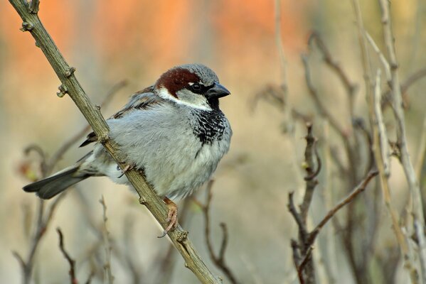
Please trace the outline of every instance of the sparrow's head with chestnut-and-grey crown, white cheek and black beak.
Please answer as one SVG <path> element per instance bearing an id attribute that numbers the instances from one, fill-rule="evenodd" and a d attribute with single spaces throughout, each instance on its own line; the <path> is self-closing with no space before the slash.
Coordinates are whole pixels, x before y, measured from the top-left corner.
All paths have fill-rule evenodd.
<path id="1" fill-rule="evenodd" d="M 230 94 L 215 72 L 201 64 L 171 68 L 157 80 L 155 90 L 164 99 L 203 110 L 218 108 L 219 98 Z"/>

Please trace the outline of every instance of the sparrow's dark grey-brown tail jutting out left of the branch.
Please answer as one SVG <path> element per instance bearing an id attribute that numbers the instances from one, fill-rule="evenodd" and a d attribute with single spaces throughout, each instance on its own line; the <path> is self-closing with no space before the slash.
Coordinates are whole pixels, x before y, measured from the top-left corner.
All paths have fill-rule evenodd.
<path id="1" fill-rule="evenodd" d="M 23 190 L 26 192 L 36 192 L 38 197 L 43 198 L 43 200 L 48 200 L 58 195 L 60 192 L 63 192 L 71 185 L 75 185 L 77 182 L 90 177 L 87 173 L 79 173 L 78 168 L 79 165 L 72 165 L 55 173 L 49 178 L 26 185 L 23 187 Z"/>

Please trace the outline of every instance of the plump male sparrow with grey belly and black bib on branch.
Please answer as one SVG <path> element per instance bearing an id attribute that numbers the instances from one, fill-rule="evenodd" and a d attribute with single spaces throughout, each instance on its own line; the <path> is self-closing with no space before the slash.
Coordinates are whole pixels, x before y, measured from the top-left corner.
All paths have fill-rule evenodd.
<path id="1" fill-rule="evenodd" d="M 169 208 L 165 236 L 177 226 L 177 205 L 209 180 L 230 148 L 233 131 L 219 108 L 230 92 L 206 65 L 172 67 L 155 84 L 133 94 L 129 102 L 107 119 L 110 139 L 125 155 L 121 170 L 94 132 L 80 147 L 92 151 L 74 165 L 23 187 L 50 199 L 77 182 L 107 176 L 130 185 L 126 170 L 134 168 Z"/>

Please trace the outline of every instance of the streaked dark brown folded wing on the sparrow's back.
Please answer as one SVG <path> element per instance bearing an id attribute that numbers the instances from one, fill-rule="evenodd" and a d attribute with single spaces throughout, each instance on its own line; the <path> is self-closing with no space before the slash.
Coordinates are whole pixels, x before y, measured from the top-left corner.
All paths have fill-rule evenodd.
<path id="1" fill-rule="evenodd" d="M 155 104 L 161 104 L 163 102 L 164 99 L 154 94 L 154 86 L 147 87 L 142 89 L 142 91 L 132 94 L 129 102 L 122 109 L 117 111 L 117 113 L 112 115 L 110 119 L 120 119 L 129 111 L 134 111 L 135 109 L 147 109 L 154 106 Z M 97 136 L 95 132 L 91 132 L 87 135 L 86 140 L 80 145 L 80 147 L 86 146 L 96 141 Z"/>

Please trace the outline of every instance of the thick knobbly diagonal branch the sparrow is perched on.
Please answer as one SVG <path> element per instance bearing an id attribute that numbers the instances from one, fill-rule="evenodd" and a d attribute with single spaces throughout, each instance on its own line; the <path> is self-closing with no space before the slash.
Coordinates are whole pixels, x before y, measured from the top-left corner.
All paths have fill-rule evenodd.
<path id="1" fill-rule="evenodd" d="M 90 102 L 80 82 L 76 79 L 74 75 L 75 68 L 70 67 L 65 61 L 65 58 L 63 58 L 63 55 L 46 31 L 46 28 L 44 28 L 37 14 L 29 11 L 28 2 L 25 0 L 9 0 L 9 2 L 14 6 L 14 9 L 23 20 L 21 30 L 29 31 L 31 35 L 33 35 L 33 38 L 36 40 L 36 45 L 40 47 L 44 55 L 46 55 L 50 65 L 53 67 L 53 70 L 55 70 L 56 75 L 58 75 L 60 82 L 62 82 L 59 87 L 60 92 L 58 96 L 63 97 L 63 95 L 68 94 L 70 98 L 73 99 L 78 109 L 80 109 L 83 116 L 85 116 L 87 122 L 92 126 L 100 143 L 102 143 L 105 150 L 110 153 L 120 168 L 123 169 L 125 166 L 124 163 L 122 163 L 122 161 L 125 160 L 124 155 L 119 151 L 117 144 L 110 140 L 107 123 L 102 117 L 100 110 Z M 166 204 L 155 194 L 151 186 L 147 184 L 142 175 L 136 170 L 128 170 L 126 175 L 140 197 L 139 202 L 147 206 L 159 224 L 164 227 L 166 225 L 165 221 L 168 212 Z M 176 249 L 181 253 L 186 262 L 186 266 L 193 271 L 202 283 L 221 283 L 220 279 L 211 273 L 195 251 L 187 235 L 187 232 L 183 231 L 181 226 L 169 232 L 169 237 L 176 246 Z"/>

